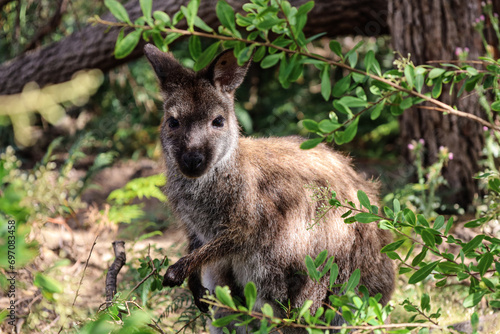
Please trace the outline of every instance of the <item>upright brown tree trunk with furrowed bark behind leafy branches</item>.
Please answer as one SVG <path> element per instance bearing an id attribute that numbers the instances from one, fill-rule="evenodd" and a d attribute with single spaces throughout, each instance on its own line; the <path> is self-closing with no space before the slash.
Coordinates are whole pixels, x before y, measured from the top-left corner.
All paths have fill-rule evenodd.
<path id="1" fill-rule="evenodd" d="M 429 60 L 457 59 L 457 47 L 468 47 L 469 58 L 477 59 L 483 52 L 473 23 L 480 15 L 479 1 L 389 0 L 388 23 L 394 50 L 405 57 L 411 54 L 411 60 L 416 65 Z M 477 95 L 457 98 L 456 94 L 447 94 L 446 88 L 449 89 L 443 87 L 441 101 L 483 116 Z M 454 92 L 457 91 L 455 87 Z M 412 139 L 425 139 L 426 165 L 437 160 L 440 146 L 449 148 L 454 158 L 444 169 L 444 176 L 453 192 L 450 200 L 462 207 L 471 204 L 477 193 L 477 184 L 472 176 L 479 170 L 478 161 L 483 147 L 481 125 L 465 118 L 416 107 L 403 113 L 400 130 L 403 154 L 408 159 L 411 157 L 407 144 Z"/>

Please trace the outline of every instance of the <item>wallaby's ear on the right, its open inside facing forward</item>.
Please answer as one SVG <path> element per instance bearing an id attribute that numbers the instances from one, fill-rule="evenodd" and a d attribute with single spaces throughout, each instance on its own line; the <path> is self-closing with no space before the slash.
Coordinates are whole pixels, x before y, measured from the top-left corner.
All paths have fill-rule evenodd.
<path id="1" fill-rule="evenodd" d="M 207 75 L 210 81 L 216 87 L 220 87 L 222 91 L 234 92 L 241 85 L 243 79 L 245 79 L 245 74 L 250 63 L 251 60 L 243 66 L 239 66 L 238 61 L 233 55 L 233 50 L 226 50 L 218 55 L 208 66 Z"/>

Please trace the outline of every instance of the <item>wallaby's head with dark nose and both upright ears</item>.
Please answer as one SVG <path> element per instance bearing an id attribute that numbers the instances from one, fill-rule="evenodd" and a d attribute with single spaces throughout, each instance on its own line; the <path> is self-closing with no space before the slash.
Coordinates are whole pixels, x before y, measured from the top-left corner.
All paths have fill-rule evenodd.
<path id="1" fill-rule="evenodd" d="M 189 178 L 200 177 L 224 163 L 238 146 L 234 91 L 250 62 L 239 66 L 229 50 L 195 73 L 151 44 L 144 53 L 164 96 L 161 143 L 168 167 Z"/>

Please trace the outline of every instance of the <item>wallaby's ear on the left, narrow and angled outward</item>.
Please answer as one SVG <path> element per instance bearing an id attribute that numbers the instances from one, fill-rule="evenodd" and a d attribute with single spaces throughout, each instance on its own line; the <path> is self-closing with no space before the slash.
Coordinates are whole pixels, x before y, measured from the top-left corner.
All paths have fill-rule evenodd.
<path id="1" fill-rule="evenodd" d="M 144 46 L 144 54 L 156 72 L 164 91 L 178 88 L 190 73 L 170 53 L 160 51 L 153 44 Z"/>

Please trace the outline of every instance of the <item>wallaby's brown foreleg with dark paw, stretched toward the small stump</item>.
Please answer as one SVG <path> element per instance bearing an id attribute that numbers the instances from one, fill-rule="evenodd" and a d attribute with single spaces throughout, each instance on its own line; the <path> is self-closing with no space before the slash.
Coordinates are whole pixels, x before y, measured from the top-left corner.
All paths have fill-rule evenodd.
<path id="1" fill-rule="evenodd" d="M 236 244 L 242 244 L 241 235 L 235 231 L 225 230 L 214 240 L 180 258 L 168 267 L 163 277 L 163 285 L 169 287 L 181 285 L 186 277 L 199 269 L 201 265 L 230 255 L 236 251 Z"/>

